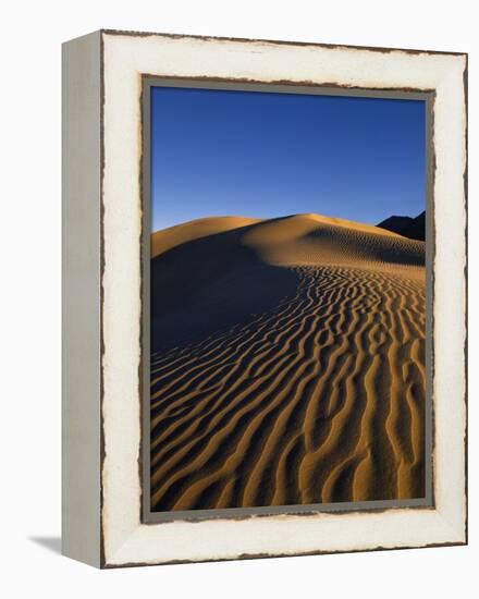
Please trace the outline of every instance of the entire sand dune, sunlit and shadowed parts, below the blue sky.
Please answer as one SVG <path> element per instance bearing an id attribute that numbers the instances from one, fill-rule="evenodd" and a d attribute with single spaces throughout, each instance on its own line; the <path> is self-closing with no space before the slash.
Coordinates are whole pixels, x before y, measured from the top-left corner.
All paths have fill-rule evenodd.
<path id="1" fill-rule="evenodd" d="M 153 235 L 152 509 L 423 497 L 423 242 L 214 220 Z"/>

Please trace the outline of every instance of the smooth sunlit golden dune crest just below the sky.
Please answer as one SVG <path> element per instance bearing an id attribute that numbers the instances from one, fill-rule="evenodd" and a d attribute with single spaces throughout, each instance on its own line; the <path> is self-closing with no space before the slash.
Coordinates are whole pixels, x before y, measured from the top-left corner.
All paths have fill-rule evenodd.
<path id="1" fill-rule="evenodd" d="M 237 239 L 237 230 L 241 236 Z M 222 237 L 256 249 L 262 260 L 275 265 L 392 262 L 423 266 L 425 244 L 370 224 L 320 215 L 296 215 L 270 220 L 243 217 L 199 219 L 157 231 L 151 235 L 151 256 L 186 242 L 235 231 Z"/>

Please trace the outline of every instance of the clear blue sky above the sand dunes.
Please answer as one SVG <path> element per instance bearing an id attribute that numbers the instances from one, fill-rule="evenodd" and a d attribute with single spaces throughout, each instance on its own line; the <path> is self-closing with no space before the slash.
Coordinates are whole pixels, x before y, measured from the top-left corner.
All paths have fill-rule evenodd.
<path id="1" fill-rule="evenodd" d="M 151 229 L 425 209 L 421 100 L 151 88 Z"/>

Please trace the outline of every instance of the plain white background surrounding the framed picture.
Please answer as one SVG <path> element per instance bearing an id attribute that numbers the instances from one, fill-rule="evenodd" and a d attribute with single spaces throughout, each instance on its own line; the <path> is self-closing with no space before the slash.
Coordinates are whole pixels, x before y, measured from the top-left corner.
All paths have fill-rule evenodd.
<path id="1" fill-rule="evenodd" d="M 4 597 L 477 596 L 474 2 L 42 0 L 2 8 L 0 591 Z M 469 52 L 469 547 L 99 572 L 60 550 L 60 45 L 103 28 Z M 455 198 L 451 198 L 454 201 Z"/>

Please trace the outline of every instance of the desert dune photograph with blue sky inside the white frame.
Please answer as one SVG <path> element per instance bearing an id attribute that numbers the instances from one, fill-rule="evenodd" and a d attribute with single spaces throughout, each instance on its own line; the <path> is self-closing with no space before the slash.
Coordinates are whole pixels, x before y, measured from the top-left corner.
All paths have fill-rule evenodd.
<path id="1" fill-rule="evenodd" d="M 151 86 L 151 512 L 427 497 L 427 110 Z"/>

